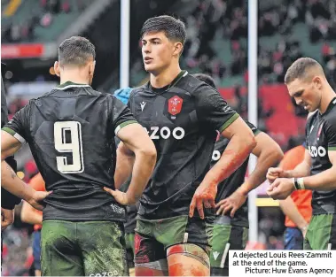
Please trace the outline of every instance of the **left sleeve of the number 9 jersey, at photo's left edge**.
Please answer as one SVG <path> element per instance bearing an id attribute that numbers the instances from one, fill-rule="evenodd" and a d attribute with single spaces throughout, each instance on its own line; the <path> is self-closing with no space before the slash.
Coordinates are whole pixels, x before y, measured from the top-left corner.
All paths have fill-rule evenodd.
<path id="1" fill-rule="evenodd" d="M 19 112 L 16 112 L 12 120 L 8 121 L 3 131 L 14 136 L 19 142 L 26 143 L 29 130 L 29 105 L 24 106 Z"/>

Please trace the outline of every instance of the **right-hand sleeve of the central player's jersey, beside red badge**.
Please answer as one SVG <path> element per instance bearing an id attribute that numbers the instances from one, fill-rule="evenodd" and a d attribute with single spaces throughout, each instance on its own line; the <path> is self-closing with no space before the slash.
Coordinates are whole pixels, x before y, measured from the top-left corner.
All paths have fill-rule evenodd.
<path id="1" fill-rule="evenodd" d="M 231 109 L 219 92 L 206 84 L 198 88 L 196 98 L 196 109 L 200 122 L 218 130 L 220 133 L 239 117 L 238 113 Z"/>

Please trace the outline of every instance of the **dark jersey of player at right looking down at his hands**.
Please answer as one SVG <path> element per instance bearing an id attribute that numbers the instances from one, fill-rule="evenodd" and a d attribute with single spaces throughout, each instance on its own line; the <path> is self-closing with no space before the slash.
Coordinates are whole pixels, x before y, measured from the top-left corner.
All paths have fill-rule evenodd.
<path id="1" fill-rule="evenodd" d="M 336 150 L 336 97 L 324 114 L 317 111 L 307 120 L 306 148 L 311 156 L 311 175 L 332 167 L 328 151 Z M 313 214 L 336 213 L 336 189 L 314 190 L 311 205 Z"/>

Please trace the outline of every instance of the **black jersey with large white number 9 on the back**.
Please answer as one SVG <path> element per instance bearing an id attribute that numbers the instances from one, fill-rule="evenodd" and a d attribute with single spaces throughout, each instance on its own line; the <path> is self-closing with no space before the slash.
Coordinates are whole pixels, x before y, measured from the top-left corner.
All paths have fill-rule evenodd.
<path id="1" fill-rule="evenodd" d="M 28 142 L 48 191 L 43 220 L 124 220 L 114 189 L 114 132 L 137 122 L 129 108 L 89 85 L 66 82 L 29 103 L 3 128 Z"/>

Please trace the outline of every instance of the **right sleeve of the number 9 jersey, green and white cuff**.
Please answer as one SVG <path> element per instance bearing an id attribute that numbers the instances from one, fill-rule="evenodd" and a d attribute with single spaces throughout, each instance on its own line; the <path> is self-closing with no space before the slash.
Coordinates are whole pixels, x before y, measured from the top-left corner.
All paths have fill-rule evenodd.
<path id="1" fill-rule="evenodd" d="M 112 117 L 115 135 L 117 135 L 122 127 L 132 123 L 137 123 L 137 120 L 134 118 L 132 112 L 130 112 L 129 107 L 114 96 Z"/>

